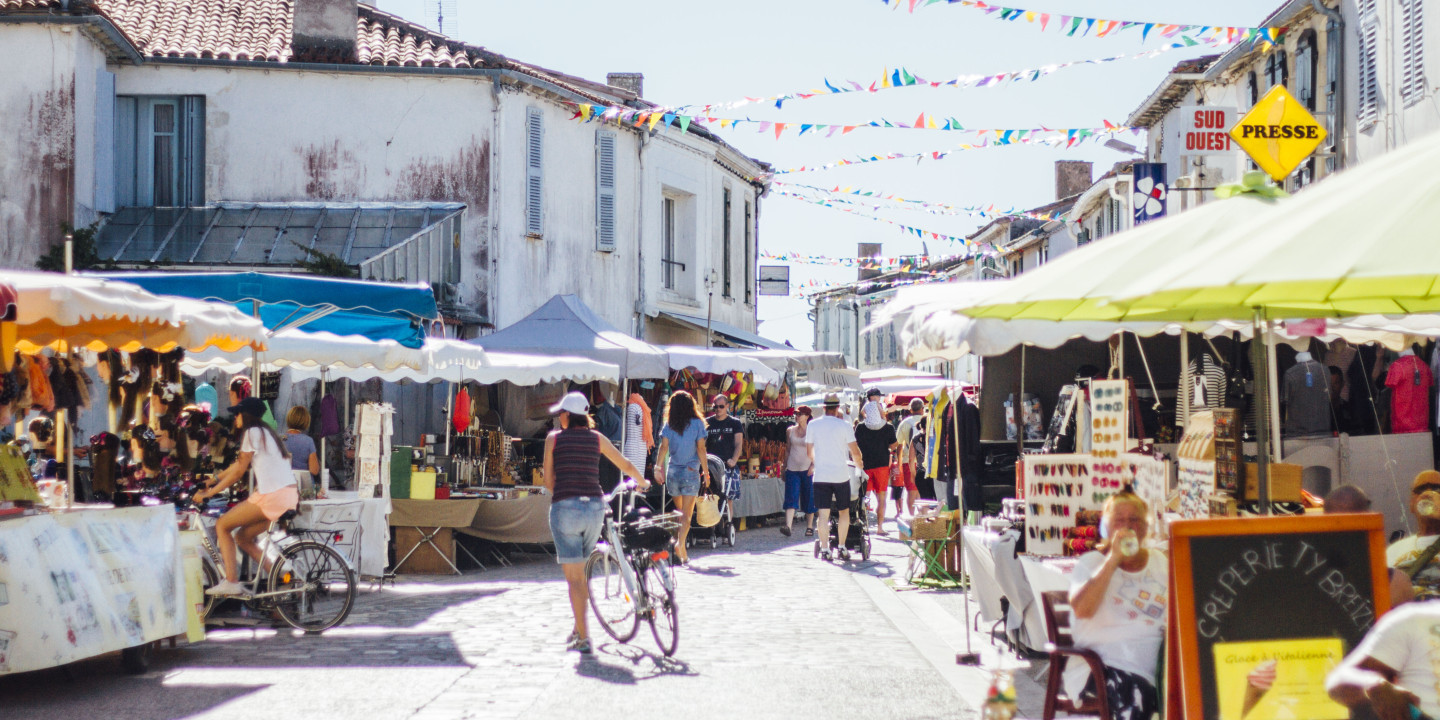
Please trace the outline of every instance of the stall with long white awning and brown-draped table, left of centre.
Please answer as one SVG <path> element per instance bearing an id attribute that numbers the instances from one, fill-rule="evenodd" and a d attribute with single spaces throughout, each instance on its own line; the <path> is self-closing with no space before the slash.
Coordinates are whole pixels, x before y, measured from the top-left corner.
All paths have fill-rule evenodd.
<path id="1" fill-rule="evenodd" d="M 233 373 L 248 366 L 249 359 L 206 353 L 187 361 L 186 370 Z M 262 370 L 285 370 L 292 382 L 446 382 L 477 390 L 495 383 L 534 386 L 618 377 L 613 366 L 585 359 L 487 353 L 472 343 L 436 337 L 412 350 L 392 340 L 298 330 L 276 333 Z M 464 387 L 458 395 L 467 395 Z M 452 418 L 471 416 L 455 410 Z M 387 403 L 356 405 L 350 428 L 357 487 L 327 487 L 327 497 L 301 503 L 298 521 L 304 527 L 333 530 L 340 539 L 337 546 L 364 576 L 382 576 L 390 567 L 392 527 L 396 572 L 458 572 L 455 553 L 465 550 L 454 541 L 454 531 L 494 541 L 550 541 L 544 517 L 549 503 L 534 491 L 528 474 L 517 487 L 508 444 L 490 448 L 487 456 L 497 462 L 487 464 L 484 456 L 465 452 L 475 433 L 454 433 L 448 422 L 446 432 L 425 435 L 433 442 L 399 445 L 393 438 L 395 412 Z M 487 436 L 505 438 L 498 429 Z M 488 481 L 494 487 L 487 487 Z"/>

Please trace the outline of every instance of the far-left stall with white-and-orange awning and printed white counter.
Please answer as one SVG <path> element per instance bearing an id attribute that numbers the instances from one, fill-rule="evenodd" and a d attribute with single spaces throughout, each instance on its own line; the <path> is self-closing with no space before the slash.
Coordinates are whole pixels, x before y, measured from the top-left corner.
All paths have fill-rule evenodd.
<path id="1" fill-rule="evenodd" d="M 0 284 L 9 288 L 0 297 L 14 305 L 0 312 L 12 320 L 0 323 L 6 338 L 0 412 L 23 423 L 32 410 L 40 410 L 53 423 L 53 459 L 65 465 L 63 475 L 55 464 L 35 467 L 53 478 L 42 481 L 48 487 L 40 492 L 24 458 L 13 448 L 0 455 L 0 674 L 114 651 L 122 651 L 127 670 L 143 671 L 153 642 L 204 636 L 196 613 L 202 599 L 199 543 L 192 541 L 193 533 L 180 533 L 174 505 L 161 500 L 194 480 L 184 472 L 194 465 L 160 471 L 151 452 L 164 438 L 140 438 L 132 441 L 141 451 L 135 462 L 140 471 L 118 482 L 144 490 L 144 500 L 131 507 L 75 503 L 69 415 L 91 397 L 82 357 L 102 353 L 102 380 L 127 405 L 145 406 L 143 419 L 154 419 L 161 435 L 174 432 L 168 439 L 181 445 L 190 428 L 176 428 L 167 418 L 171 408 L 184 415 L 184 397 L 171 383 L 156 382 L 157 356 L 174 359 L 186 348 L 207 346 L 262 348 L 264 328 L 230 307 L 163 298 L 124 282 L 6 272 Z M 40 372 L 46 366 L 48 376 Z M 111 367 L 122 374 L 107 377 Z M 114 445 L 120 445 L 118 438 Z M 108 465 L 114 455 L 88 459 Z M 128 500 L 118 491 L 109 497 Z"/>

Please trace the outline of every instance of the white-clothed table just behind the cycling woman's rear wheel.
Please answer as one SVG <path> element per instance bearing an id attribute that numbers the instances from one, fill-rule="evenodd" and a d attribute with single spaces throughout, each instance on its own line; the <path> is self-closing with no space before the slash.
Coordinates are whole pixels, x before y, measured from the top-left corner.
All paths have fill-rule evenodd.
<path id="1" fill-rule="evenodd" d="M 366 577 L 380 577 L 390 564 L 390 498 L 361 498 L 331 492 L 325 500 L 304 500 L 294 527 L 330 533 L 325 539 L 350 567 Z"/>

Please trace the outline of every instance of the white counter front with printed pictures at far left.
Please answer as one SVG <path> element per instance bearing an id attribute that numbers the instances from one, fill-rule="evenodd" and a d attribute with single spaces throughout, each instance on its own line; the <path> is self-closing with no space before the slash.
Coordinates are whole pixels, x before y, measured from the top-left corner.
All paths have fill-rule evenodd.
<path id="1" fill-rule="evenodd" d="M 171 505 L 0 521 L 0 674 L 186 634 Z"/>

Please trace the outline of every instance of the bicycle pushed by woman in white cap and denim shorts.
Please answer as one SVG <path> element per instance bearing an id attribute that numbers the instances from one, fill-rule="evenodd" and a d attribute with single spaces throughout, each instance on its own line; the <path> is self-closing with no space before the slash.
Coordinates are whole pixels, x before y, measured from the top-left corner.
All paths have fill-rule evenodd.
<path id="1" fill-rule="evenodd" d="M 634 490 L 635 481 L 626 480 L 605 495 L 606 508 L 616 495 Z M 647 513 L 629 510 L 615 518 L 616 513 L 606 510 L 602 540 L 585 562 L 585 583 L 590 590 L 590 609 L 609 636 L 629 642 L 645 618 L 660 651 L 671 657 L 680 647 L 680 618 L 675 576 L 668 560 L 675 543 L 671 533 L 680 528 L 681 513 L 654 517 Z"/>

